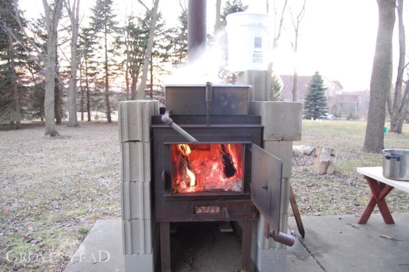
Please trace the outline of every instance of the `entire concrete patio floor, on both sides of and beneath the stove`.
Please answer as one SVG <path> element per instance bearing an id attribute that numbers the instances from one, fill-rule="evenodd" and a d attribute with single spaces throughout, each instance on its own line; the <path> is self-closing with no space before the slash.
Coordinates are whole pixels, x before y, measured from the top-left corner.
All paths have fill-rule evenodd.
<path id="1" fill-rule="evenodd" d="M 287 271 L 408 271 L 409 213 L 392 215 L 392 225 L 380 214 L 365 225 L 356 225 L 353 215 L 303 217 L 306 237 L 287 247 Z M 298 234 L 293 217 L 288 224 Z M 124 271 L 121 232 L 121 220 L 98 220 L 65 271 Z M 240 266 L 237 235 L 211 225 L 191 232 L 179 227 L 171 235 L 175 271 L 232 271 Z"/>

